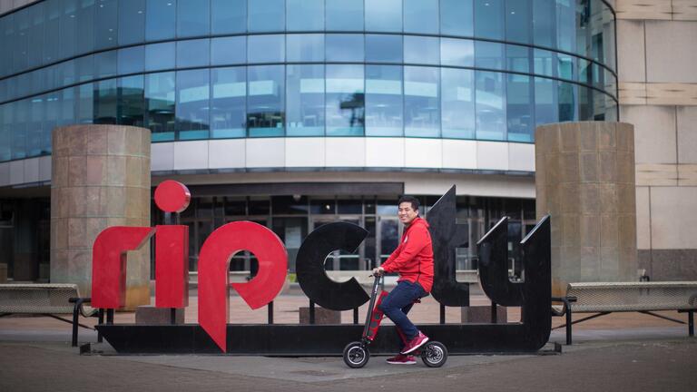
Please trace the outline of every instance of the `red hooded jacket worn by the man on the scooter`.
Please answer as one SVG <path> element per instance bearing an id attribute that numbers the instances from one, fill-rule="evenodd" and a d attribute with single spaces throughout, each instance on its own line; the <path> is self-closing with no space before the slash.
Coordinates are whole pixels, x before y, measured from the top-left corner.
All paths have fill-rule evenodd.
<path id="1" fill-rule="evenodd" d="M 427 293 L 433 287 L 433 245 L 428 223 L 421 217 L 411 221 L 399 246 L 381 266 L 385 272 L 398 272 L 400 280 L 418 282 Z"/>

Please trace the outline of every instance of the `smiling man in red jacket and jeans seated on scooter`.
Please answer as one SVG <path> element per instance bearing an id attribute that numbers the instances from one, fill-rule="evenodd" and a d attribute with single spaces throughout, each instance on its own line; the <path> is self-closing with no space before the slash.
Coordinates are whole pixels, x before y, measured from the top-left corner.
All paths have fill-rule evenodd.
<path id="1" fill-rule="evenodd" d="M 418 199 L 403 196 L 398 201 L 398 217 L 405 230 L 399 245 L 373 274 L 397 272 L 398 284 L 382 300 L 379 309 L 395 323 L 404 342 L 401 352 L 388 358 L 388 364 L 412 365 L 417 360 L 409 355 L 423 346 L 428 337 L 407 318 L 417 299 L 427 296 L 433 286 L 433 246 L 428 223 L 418 216 Z"/>

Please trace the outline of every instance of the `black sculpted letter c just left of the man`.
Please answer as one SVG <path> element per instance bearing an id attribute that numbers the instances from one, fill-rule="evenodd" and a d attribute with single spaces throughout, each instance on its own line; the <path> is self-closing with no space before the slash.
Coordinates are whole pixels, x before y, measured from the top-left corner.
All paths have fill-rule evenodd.
<path id="1" fill-rule="evenodd" d="M 348 310 L 368 302 L 368 294 L 355 278 L 343 283 L 329 279 L 324 260 L 334 250 L 355 251 L 368 236 L 368 230 L 348 222 L 320 226 L 302 241 L 295 263 L 300 289 L 322 308 Z M 368 273 L 368 271 L 366 271 Z"/>

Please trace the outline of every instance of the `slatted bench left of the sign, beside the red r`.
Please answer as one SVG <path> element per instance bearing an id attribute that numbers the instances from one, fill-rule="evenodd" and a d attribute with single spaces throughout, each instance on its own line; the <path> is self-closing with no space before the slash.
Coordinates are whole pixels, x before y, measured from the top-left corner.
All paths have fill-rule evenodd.
<path id="1" fill-rule="evenodd" d="M 89 298 L 80 297 L 75 284 L 0 284 L 0 317 L 11 314 L 40 314 L 73 324 L 73 347 L 77 346 L 77 328 L 87 327 L 78 322 L 79 315 L 97 317 L 97 309 L 85 303 Z M 73 320 L 56 314 L 72 314 Z"/>

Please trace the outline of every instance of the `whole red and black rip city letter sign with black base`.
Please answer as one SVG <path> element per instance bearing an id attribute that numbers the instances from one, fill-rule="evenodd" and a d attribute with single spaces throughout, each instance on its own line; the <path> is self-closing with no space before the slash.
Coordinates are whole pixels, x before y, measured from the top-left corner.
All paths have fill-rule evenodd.
<path id="1" fill-rule="evenodd" d="M 155 190 L 162 211 L 181 212 L 191 193 L 177 181 L 164 181 Z M 444 307 L 469 306 L 469 286 L 456 282 L 455 249 L 466 243 L 466 227 L 456 224 L 455 187 L 428 211 L 434 247 L 435 276 L 432 295 Z M 126 253 L 155 237 L 155 307 L 188 306 L 188 227 L 111 227 L 93 245 L 92 305 L 119 309 L 125 303 Z M 368 231 L 348 222 L 320 226 L 302 242 L 296 259 L 300 288 L 319 306 L 332 310 L 358 309 L 368 294 L 356 279 L 338 283 L 327 276 L 324 261 L 334 250 L 354 251 Z M 508 279 L 507 219 L 477 243 L 479 275 L 486 295 L 499 305 L 521 307 L 520 322 L 503 324 L 419 325 L 428 336 L 442 341 L 450 352 L 535 351 L 549 338 L 551 314 L 549 217 L 541 220 L 521 242 L 525 281 Z M 258 260 L 257 275 L 246 283 L 230 283 L 231 257 L 249 250 Z M 119 352 L 215 353 L 260 355 L 339 354 L 360 336 L 358 324 L 279 325 L 228 324 L 229 289 L 235 289 L 251 309 L 270 304 L 279 295 L 288 274 L 288 256 L 282 241 L 265 226 L 231 222 L 214 230 L 199 253 L 199 325 L 97 326 Z M 272 311 L 272 309 L 270 309 Z M 386 326 L 371 351 L 393 352 L 398 341 Z"/>

